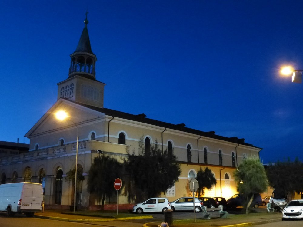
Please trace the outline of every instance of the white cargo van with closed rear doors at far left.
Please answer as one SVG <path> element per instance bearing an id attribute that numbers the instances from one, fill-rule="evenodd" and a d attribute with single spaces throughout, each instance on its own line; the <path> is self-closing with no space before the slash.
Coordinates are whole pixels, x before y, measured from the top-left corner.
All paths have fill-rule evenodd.
<path id="1" fill-rule="evenodd" d="M 42 184 L 20 182 L 0 185 L 0 211 L 7 216 L 24 213 L 33 217 L 42 211 Z"/>

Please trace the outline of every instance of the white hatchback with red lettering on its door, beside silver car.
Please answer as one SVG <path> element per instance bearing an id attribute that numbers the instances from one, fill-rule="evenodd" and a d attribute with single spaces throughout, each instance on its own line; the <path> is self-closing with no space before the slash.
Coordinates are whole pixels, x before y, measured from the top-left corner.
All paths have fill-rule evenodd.
<path id="1" fill-rule="evenodd" d="M 142 214 L 143 212 L 162 212 L 171 209 L 167 198 L 150 198 L 145 202 L 133 206 L 133 212 Z"/>

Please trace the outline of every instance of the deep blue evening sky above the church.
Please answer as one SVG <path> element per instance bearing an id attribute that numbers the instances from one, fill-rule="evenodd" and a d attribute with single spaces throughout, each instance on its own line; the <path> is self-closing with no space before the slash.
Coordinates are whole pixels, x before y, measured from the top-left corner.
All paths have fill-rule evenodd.
<path id="1" fill-rule="evenodd" d="M 0 3 L 0 140 L 56 102 L 88 9 L 104 107 L 245 138 L 263 163 L 303 160 L 303 1 L 53 0 Z M 160 138 L 158 138 L 159 140 Z"/>

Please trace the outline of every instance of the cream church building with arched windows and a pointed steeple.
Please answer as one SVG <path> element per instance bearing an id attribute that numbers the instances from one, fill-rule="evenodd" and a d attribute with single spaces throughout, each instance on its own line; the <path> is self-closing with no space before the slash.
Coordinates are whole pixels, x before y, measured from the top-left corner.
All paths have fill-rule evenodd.
<path id="1" fill-rule="evenodd" d="M 144 113 L 105 108 L 106 84 L 96 79 L 97 57 L 91 48 L 87 18 L 84 24 L 78 45 L 70 55 L 68 77 L 62 76 L 63 81 L 57 84 L 58 100 L 25 135 L 30 139 L 29 152 L 0 156 L 1 182 L 42 183 L 45 205 L 70 206 L 74 189 L 65 177 L 77 163 L 84 180 L 77 182 L 76 203 L 93 209 L 101 202 L 92 201 L 86 189 L 94 158 L 108 155 L 121 160 L 120 157 L 127 156 L 127 149 L 138 150 L 143 135 L 146 148 L 157 141 L 160 149 L 173 153 L 181 165 L 178 181 L 161 197 L 173 201 L 192 196 L 188 183 L 200 167 L 211 169 L 217 179 L 216 186 L 206 190 L 204 196 L 227 199 L 237 193 L 233 171 L 246 157 L 259 158 L 261 148 L 245 143 L 244 139 L 191 129 L 183 123 L 172 124 L 150 119 Z M 67 120 L 55 118 L 59 110 L 68 113 Z M 107 198 L 105 204 L 116 204 L 116 200 Z M 128 204 L 121 193 L 119 204 Z"/>

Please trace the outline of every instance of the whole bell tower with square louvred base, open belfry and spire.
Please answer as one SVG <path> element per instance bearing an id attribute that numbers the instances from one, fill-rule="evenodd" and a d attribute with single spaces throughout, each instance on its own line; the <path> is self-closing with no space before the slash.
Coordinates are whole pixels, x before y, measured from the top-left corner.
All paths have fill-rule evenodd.
<path id="1" fill-rule="evenodd" d="M 103 94 L 105 84 L 96 80 L 96 55 L 92 52 L 88 36 L 88 20 L 84 20 L 78 45 L 70 55 L 71 63 L 68 78 L 58 83 L 58 99 L 65 98 L 74 102 L 103 108 Z"/>

